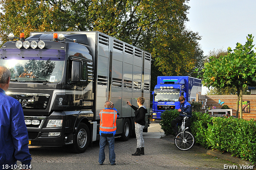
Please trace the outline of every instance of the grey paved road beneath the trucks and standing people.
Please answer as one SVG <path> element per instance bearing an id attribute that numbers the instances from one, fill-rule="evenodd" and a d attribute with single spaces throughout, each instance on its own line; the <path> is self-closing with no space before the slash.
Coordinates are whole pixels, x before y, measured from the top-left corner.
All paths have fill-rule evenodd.
<path id="1" fill-rule="evenodd" d="M 107 147 L 104 165 L 98 165 L 98 142 L 94 142 L 82 154 L 68 152 L 65 147 L 30 146 L 32 170 L 223 170 L 225 165 L 236 165 L 193 148 L 187 151 L 178 150 L 172 138 L 160 138 L 164 136 L 164 132 L 159 123 L 152 122 L 148 131 L 148 133 L 143 134 L 145 155 L 142 156 L 131 155 L 136 151 L 136 138 L 130 138 L 126 142 L 116 139 L 117 165 L 115 166 L 111 166 L 108 161 Z M 240 169 L 239 165 L 236 166 Z"/>

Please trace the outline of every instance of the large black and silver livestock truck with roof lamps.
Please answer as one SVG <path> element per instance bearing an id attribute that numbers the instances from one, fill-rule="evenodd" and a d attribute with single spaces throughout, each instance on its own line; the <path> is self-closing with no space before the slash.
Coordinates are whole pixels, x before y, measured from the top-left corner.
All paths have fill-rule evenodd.
<path id="1" fill-rule="evenodd" d="M 147 132 L 151 54 L 97 31 L 30 32 L 0 49 L 12 73 L 8 95 L 23 107 L 32 146 L 72 146 L 81 153 L 99 140 L 99 112 L 111 100 L 120 116 L 116 137 L 134 133 L 134 110 L 143 96 Z"/>

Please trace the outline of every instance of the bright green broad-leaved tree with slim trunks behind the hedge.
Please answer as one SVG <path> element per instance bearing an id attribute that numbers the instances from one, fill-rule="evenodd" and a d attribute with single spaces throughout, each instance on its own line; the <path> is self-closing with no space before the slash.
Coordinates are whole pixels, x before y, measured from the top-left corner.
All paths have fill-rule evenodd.
<path id="1" fill-rule="evenodd" d="M 256 85 L 256 53 L 254 53 L 251 34 L 245 45 L 236 44 L 236 48 L 228 48 L 228 54 L 216 58 L 211 56 L 204 64 L 203 84 L 217 88 L 236 87 L 240 108 L 242 108 L 242 90 L 247 86 Z M 239 102 L 237 102 L 239 103 Z M 238 104 L 236 116 L 238 117 Z M 242 109 L 240 109 L 242 118 Z"/>

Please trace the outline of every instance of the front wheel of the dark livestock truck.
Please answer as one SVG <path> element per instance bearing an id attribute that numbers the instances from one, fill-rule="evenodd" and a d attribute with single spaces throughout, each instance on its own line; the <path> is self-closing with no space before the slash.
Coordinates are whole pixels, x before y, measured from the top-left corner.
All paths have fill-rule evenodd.
<path id="1" fill-rule="evenodd" d="M 74 143 L 73 143 L 73 151 L 75 153 L 83 153 L 89 145 L 90 142 L 90 131 L 86 124 L 80 123 L 78 126 L 78 130 L 76 131 Z"/>

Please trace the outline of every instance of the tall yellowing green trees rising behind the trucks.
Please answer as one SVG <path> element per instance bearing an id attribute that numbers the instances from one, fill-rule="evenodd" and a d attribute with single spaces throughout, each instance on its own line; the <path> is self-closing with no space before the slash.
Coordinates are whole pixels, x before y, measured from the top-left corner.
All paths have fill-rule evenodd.
<path id="1" fill-rule="evenodd" d="M 150 52 L 152 77 L 196 76 L 204 56 L 200 36 L 184 26 L 188 1 L 0 0 L 0 42 L 10 32 L 95 30 Z"/>

